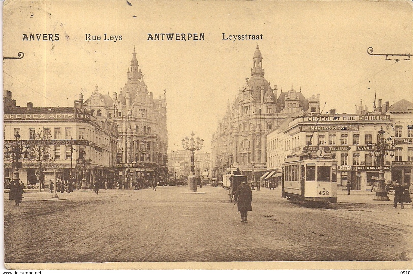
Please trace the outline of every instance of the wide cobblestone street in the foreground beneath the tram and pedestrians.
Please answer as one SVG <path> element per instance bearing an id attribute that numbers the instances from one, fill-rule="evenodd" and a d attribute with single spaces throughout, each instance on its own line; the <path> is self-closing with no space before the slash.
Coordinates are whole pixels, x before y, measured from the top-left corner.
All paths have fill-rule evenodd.
<path id="1" fill-rule="evenodd" d="M 186 190 L 74 191 L 59 201 L 27 191 L 20 207 L 5 194 L 5 262 L 412 259 L 413 209 L 394 209 L 392 195 L 339 191 L 339 203 L 310 207 L 263 188 L 241 223 L 226 189 Z"/>

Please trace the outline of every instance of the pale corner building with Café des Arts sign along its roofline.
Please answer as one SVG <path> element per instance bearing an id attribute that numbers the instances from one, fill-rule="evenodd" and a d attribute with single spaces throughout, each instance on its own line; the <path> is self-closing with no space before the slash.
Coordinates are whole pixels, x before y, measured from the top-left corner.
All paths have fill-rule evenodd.
<path id="1" fill-rule="evenodd" d="M 117 128 L 114 122 L 99 122 L 83 108 L 83 96 L 73 107 L 16 106 L 12 92 L 3 96 L 3 138 L 5 152 L 16 146 L 19 132 L 20 146 L 30 153 L 21 160 L 19 177 L 24 184 L 38 187 L 57 178 L 82 179 L 85 169 L 88 183 L 94 180 L 113 182 L 116 168 Z M 5 178 L 12 179 L 12 159 L 4 158 Z M 42 186 L 43 188 L 43 186 Z"/>

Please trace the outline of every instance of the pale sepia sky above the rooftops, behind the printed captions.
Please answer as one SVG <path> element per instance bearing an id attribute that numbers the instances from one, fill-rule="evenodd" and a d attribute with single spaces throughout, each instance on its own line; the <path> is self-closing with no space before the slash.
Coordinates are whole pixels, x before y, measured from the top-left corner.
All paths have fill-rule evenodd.
<path id="1" fill-rule="evenodd" d="M 126 83 L 133 47 L 154 97 L 166 89 L 169 150 L 193 131 L 210 152 L 211 135 L 246 77 L 259 44 L 265 77 L 278 91 L 320 93 L 323 112 L 412 100 L 413 53 L 408 1 L 8 1 L 3 8 L 4 89 L 17 105 L 73 106 L 98 86 L 111 96 Z M 205 33 L 203 41 L 148 41 L 148 33 Z M 59 41 L 23 41 L 59 33 Z M 85 34 L 122 40 L 85 41 Z M 223 34 L 263 40 L 223 40 Z M 413 58 L 411 58 L 413 59 Z"/>

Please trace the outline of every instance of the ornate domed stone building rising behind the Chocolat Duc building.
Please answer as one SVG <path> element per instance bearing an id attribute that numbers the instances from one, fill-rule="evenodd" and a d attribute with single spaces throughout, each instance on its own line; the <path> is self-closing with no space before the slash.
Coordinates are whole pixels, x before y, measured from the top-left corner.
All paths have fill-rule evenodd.
<path id="1" fill-rule="evenodd" d="M 253 56 L 251 78 L 238 91 L 231 105 L 228 101 L 224 117 L 218 122 L 218 129 L 212 136 L 211 170 L 212 178 L 221 180 L 228 168 L 240 168 L 244 175 L 258 179 L 266 171 L 265 133 L 278 127 L 294 113 L 320 112 L 319 97 L 305 98 L 291 88 L 280 91 L 264 77 L 263 57 L 259 46 Z M 258 176 L 258 177 L 257 177 Z"/>

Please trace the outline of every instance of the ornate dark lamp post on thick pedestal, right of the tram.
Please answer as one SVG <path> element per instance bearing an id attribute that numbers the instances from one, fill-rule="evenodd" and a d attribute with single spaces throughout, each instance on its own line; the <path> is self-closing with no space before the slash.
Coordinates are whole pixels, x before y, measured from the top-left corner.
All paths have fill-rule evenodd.
<path id="1" fill-rule="evenodd" d="M 385 155 L 390 154 L 390 156 L 393 158 L 395 151 L 394 147 L 396 146 L 396 144 L 386 142 L 384 137 L 385 131 L 383 130 L 383 127 L 381 127 L 378 133 L 379 136 L 377 143 L 368 143 L 368 152 L 370 156 L 375 157 L 377 163 L 380 165 L 378 186 L 376 190 L 376 196 L 373 200 L 390 201 L 385 189 L 385 172 L 383 166 L 385 162 Z"/>

